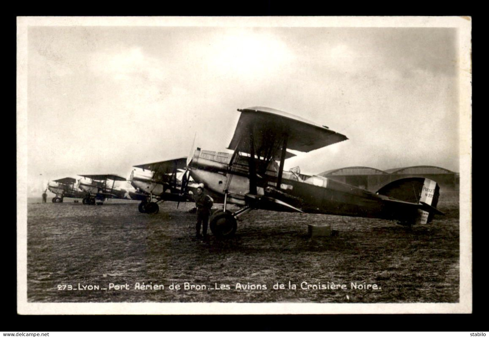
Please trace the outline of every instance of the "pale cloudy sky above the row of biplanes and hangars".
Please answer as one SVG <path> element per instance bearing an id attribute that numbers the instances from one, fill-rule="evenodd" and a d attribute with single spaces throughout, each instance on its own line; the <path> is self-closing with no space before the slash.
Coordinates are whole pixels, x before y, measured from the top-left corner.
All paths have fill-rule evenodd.
<path id="1" fill-rule="evenodd" d="M 349 140 L 303 173 L 459 171 L 455 28 L 29 26 L 27 184 L 227 147 L 238 108 L 268 106 Z M 194 147 L 194 148 L 195 148 Z"/>

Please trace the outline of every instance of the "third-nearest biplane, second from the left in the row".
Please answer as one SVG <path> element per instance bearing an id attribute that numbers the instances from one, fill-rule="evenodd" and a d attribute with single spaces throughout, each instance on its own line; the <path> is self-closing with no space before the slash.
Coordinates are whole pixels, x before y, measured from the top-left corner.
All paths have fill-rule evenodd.
<path id="1" fill-rule="evenodd" d="M 105 199 L 136 199 L 142 200 L 142 196 L 134 193 L 130 195 L 130 190 L 115 187 L 116 181 L 127 181 L 126 178 L 116 174 L 79 174 L 85 180 L 80 179 L 78 186 L 85 192 L 83 203 L 95 205 L 96 199 L 100 198 L 98 203 Z"/>

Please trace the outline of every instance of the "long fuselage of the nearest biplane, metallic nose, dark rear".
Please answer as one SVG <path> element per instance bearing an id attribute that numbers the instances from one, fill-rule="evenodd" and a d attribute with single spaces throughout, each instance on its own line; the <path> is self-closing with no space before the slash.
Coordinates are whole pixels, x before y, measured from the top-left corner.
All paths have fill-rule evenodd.
<path id="1" fill-rule="evenodd" d="M 204 156 L 206 154 L 204 153 Z M 214 161 L 196 153 L 192 162 L 191 175 L 206 188 L 223 195 L 227 188 L 228 202 L 245 206 L 250 203 L 250 180 L 243 169 L 228 170 L 224 160 Z M 231 179 L 229 182 L 228 179 Z M 389 202 L 392 198 L 368 190 L 347 185 L 320 176 L 297 175 L 283 172 L 281 186 L 277 188 L 277 173 L 267 170 L 257 175 L 257 195 L 276 199 L 292 206 L 287 209 L 273 202 L 260 203 L 259 208 L 272 211 L 294 211 L 361 216 L 369 218 L 416 221 L 418 210 L 407 203 Z"/>

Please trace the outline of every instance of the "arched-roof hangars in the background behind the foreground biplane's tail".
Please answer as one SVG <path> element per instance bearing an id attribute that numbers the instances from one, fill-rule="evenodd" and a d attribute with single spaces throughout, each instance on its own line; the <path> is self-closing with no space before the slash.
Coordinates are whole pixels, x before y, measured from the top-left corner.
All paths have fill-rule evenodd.
<path id="1" fill-rule="evenodd" d="M 432 179 L 440 185 L 442 191 L 459 189 L 459 174 L 436 166 L 411 166 L 385 171 L 365 166 L 353 166 L 332 169 L 319 173 L 319 175 L 371 191 L 377 191 L 391 181 L 409 177 Z"/>

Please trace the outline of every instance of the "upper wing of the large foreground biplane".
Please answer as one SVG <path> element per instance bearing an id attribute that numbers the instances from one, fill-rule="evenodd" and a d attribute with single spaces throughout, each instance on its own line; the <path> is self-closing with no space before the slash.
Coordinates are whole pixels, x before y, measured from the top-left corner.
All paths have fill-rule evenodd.
<path id="1" fill-rule="evenodd" d="M 253 134 L 256 148 L 272 146 L 275 140 L 287 136 L 287 148 L 309 152 L 317 148 L 338 143 L 348 139 L 345 135 L 334 132 L 326 126 L 267 107 L 254 106 L 241 111 L 238 125 L 234 131 L 229 149 L 238 149 L 249 153 L 247 142 L 249 133 Z M 279 149 L 275 150 L 278 152 Z"/>

